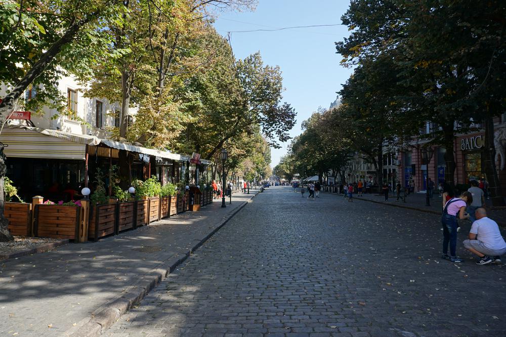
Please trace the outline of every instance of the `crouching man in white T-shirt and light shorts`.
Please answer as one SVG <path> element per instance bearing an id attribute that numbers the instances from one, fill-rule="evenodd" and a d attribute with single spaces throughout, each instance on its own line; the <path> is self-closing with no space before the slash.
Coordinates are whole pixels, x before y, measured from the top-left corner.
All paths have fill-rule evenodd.
<path id="1" fill-rule="evenodd" d="M 492 219 L 487 218 L 485 208 L 478 208 L 475 212 L 476 221 L 473 222 L 469 239 L 463 244 L 469 251 L 480 258 L 476 264 L 500 263 L 500 256 L 506 254 L 506 242 L 502 238 L 499 226 Z"/>

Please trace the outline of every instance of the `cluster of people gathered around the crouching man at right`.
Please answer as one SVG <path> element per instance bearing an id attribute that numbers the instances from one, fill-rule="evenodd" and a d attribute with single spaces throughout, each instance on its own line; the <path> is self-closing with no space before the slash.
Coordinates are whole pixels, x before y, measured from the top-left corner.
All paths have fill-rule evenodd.
<path id="1" fill-rule="evenodd" d="M 502 237 L 499 226 L 487 217 L 485 209 L 485 193 L 477 181 L 471 182 L 471 188 L 455 197 L 450 186 L 445 184 L 443 192 L 443 259 L 451 262 L 462 262 L 456 256 L 457 220 L 468 219 L 472 222 L 468 239 L 463 241 L 473 254 L 478 256 L 476 264 L 486 265 L 500 263 L 501 255 L 506 254 L 506 241 Z M 450 255 L 448 255 L 448 246 Z"/>

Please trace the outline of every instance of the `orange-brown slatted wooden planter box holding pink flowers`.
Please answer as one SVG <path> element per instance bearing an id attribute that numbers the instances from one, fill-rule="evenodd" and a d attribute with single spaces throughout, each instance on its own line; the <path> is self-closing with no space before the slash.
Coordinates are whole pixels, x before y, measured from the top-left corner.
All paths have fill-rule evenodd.
<path id="1" fill-rule="evenodd" d="M 79 206 L 35 205 L 33 234 L 75 240 L 79 237 Z"/>

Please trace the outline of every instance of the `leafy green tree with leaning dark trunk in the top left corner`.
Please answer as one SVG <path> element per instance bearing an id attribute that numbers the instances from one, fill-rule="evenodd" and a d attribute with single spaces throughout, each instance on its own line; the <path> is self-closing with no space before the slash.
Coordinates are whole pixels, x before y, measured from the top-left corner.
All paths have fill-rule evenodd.
<path id="1" fill-rule="evenodd" d="M 19 4 L 7 0 L 0 3 L 3 46 L 0 82 L 8 86 L 7 95 L 0 103 L 0 123 L 5 123 L 31 85 L 43 89 L 39 90 L 39 98 L 31 103 L 33 106 L 37 102 L 61 101 L 61 96 L 54 91 L 60 75 L 70 69 L 87 71 L 107 41 L 96 28 L 102 19 L 117 17 L 122 10 L 122 3 L 116 0 L 27 0 Z M 86 48 L 90 44 L 97 48 Z M 0 158 L 0 241 L 13 240 L 4 217 L 5 172 L 4 158 Z"/>

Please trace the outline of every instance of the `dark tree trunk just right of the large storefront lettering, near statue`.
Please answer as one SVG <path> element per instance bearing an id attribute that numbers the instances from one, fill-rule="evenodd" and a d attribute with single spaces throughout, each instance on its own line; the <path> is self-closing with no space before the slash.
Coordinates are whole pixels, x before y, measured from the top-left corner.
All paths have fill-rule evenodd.
<path id="1" fill-rule="evenodd" d="M 484 158 L 483 167 L 492 197 L 492 205 L 504 206 L 504 197 L 495 166 L 494 120 L 492 117 L 485 119 L 485 144 L 482 147 L 482 157 Z"/>

